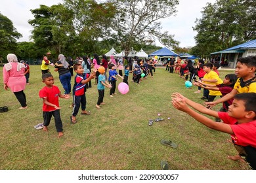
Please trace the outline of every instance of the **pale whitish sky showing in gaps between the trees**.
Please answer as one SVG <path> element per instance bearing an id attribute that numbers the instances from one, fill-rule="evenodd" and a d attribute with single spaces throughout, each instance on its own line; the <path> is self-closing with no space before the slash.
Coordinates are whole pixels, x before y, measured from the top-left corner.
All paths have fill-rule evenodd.
<path id="1" fill-rule="evenodd" d="M 202 8 L 206 3 L 215 3 L 215 0 L 180 0 L 177 6 L 177 16 L 171 16 L 161 20 L 163 31 L 169 31 L 175 35 L 175 40 L 181 42 L 181 47 L 195 46 L 194 37 L 196 32 L 192 27 L 196 18 L 201 18 Z M 32 27 L 28 24 L 28 20 L 33 19 L 30 9 L 39 8 L 39 5 L 56 5 L 62 3 L 62 0 L 1 0 L 0 12 L 7 16 L 17 31 L 23 35 L 18 41 L 29 41 Z M 163 46 L 157 43 L 158 46 Z"/>

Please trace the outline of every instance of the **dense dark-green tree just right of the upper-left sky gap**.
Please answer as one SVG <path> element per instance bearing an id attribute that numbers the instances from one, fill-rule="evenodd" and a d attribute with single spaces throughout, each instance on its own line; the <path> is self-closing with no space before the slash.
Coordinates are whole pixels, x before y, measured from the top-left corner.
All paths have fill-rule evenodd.
<path id="1" fill-rule="evenodd" d="M 68 35 L 72 29 L 73 14 L 63 5 L 47 7 L 40 5 L 31 10 L 34 15 L 29 24 L 33 26 L 32 38 L 35 46 L 45 48 L 45 53 L 51 50 L 55 54 L 65 52 L 68 44 Z M 42 53 L 43 54 L 43 53 Z"/>

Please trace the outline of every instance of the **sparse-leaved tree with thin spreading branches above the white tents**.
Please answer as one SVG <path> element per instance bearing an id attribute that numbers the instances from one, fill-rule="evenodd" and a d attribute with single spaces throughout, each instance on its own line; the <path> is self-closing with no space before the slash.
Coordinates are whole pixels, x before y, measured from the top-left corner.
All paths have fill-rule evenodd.
<path id="1" fill-rule="evenodd" d="M 151 36 L 162 37 L 163 18 L 175 15 L 178 0 L 110 0 L 117 7 L 117 13 L 110 28 L 126 52 L 135 42 L 144 42 Z M 161 7 L 161 8 L 160 8 Z M 166 34 L 165 34 L 166 35 Z M 170 37 L 169 37 L 170 38 Z"/>

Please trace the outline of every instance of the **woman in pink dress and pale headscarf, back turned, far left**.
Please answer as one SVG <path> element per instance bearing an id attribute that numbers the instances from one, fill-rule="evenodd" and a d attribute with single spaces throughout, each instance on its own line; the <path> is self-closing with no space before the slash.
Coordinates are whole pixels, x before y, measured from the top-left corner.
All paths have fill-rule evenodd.
<path id="1" fill-rule="evenodd" d="M 26 95 L 23 92 L 26 88 L 25 65 L 18 63 L 18 59 L 14 54 L 8 54 L 7 60 L 9 63 L 3 67 L 3 88 L 5 90 L 10 88 L 14 93 L 22 106 L 19 109 L 28 108 Z"/>

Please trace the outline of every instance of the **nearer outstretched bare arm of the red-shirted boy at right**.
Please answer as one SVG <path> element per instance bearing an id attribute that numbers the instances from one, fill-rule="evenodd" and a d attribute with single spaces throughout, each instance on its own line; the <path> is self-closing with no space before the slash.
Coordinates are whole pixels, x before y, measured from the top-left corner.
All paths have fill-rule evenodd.
<path id="1" fill-rule="evenodd" d="M 189 108 L 188 105 L 186 105 L 186 102 L 184 101 L 184 99 L 173 98 L 172 103 L 173 103 L 173 107 L 183 112 L 186 112 L 186 114 L 192 116 L 192 118 L 194 118 L 201 124 L 206 125 L 211 129 L 216 129 L 217 131 L 222 131 L 228 134 L 234 134 L 230 125 L 214 122 L 210 118 L 207 118 L 202 114 L 199 114 L 198 112 L 192 110 L 192 108 Z"/>

